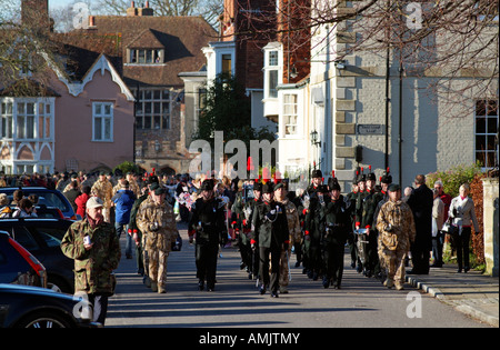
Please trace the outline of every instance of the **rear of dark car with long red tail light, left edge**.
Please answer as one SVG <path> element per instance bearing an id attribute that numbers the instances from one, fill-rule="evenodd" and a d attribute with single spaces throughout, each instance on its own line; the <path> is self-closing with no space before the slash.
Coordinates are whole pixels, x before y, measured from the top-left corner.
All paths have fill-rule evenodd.
<path id="1" fill-rule="evenodd" d="M 6 231 L 0 231 L 0 283 L 47 287 L 46 268 Z"/>

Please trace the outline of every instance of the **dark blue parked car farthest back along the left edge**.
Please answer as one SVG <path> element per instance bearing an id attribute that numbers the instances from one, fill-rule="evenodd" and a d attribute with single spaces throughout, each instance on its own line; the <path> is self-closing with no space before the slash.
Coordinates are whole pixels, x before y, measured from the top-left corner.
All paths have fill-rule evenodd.
<path id="1" fill-rule="evenodd" d="M 71 207 L 71 203 L 64 197 L 64 194 L 62 194 L 58 190 L 49 190 L 44 187 L 23 187 L 23 188 L 6 187 L 0 188 L 0 193 L 6 193 L 7 197 L 9 198 L 9 201 L 12 201 L 13 192 L 19 189 L 22 190 L 24 197 L 28 197 L 30 194 L 37 194 L 39 204 L 58 208 L 67 219 L 71 220 L 81 219 L 79 218 L 79 216 L 77 217 L 73 208 Z"/>

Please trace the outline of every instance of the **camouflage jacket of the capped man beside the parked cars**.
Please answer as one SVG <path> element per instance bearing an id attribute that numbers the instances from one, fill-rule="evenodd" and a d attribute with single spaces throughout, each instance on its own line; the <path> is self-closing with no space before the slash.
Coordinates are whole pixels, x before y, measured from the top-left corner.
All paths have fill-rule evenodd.
<path id="1" fill-rule="evenodd" d="M 83 238 L 90 237 L 90 250 Z M 88 294 L 112 294 L 111 271 L 118 268 L 121 251 L 114 227 L 102 222 L 92 229 L 88 219 L 73 222 L 61 241 L 61 250 L 74 259 L 74 291 Z"/>

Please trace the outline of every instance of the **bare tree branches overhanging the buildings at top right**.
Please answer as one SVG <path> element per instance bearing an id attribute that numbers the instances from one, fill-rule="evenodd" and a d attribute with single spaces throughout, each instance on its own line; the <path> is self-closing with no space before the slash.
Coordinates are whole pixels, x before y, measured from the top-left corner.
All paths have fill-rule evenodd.
<path id="1" fill-rule="evenodd" d="M 430 78 L 426 89 L 441 101 L 460 103 L 472 96 L 498 100 L 498 0 L 269 2 L 274 8 L 259 16 L 248 11 L 254 1 L 241 2 L 247 9 L 241 16 L 251 26 L 240 27 L 237 36 L 279 38 L 284 57 L 309 43 L 311 61 L 340 61 L 353 53 L 390 57 L 391 67 L 399 66 L 404 76 Z M 309 38 L 294 39 L 304 32 Z M 333 38 L 346 44 L 332 44 Z"/>

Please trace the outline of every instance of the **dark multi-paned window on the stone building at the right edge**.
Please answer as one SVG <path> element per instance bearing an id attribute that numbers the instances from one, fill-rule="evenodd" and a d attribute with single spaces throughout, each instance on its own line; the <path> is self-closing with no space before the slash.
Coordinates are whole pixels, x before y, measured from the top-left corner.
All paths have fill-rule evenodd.
<path id="1" fill-rule="evenodd" d="M 476 161 L 484 168 L 492 168 L 497 163 L 494 158 L 498 157 L 498 144 L 494 138 L 498 126 L 498 101 L 476 101 Z"/>

